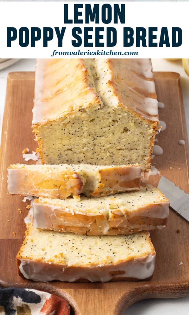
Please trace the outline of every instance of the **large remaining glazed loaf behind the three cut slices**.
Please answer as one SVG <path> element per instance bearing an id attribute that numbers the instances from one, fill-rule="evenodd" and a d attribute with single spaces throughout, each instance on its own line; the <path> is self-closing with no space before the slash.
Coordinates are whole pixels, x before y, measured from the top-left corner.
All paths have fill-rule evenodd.
<path id="1" fill-rule="evenodd" d="M 37 60 L 33 129 L 43 164 L 144 171 L 158 124 L 151 60 Z"/>

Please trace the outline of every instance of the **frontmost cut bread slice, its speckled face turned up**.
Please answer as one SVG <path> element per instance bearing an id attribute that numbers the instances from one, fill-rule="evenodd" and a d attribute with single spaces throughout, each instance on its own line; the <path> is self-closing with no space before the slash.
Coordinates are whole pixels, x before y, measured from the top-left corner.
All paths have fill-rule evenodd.
<path id="1" fill-rule="evenodd" d="M 29 227 L 17 254 L 19 274 L 35 281 L 142 280 L 154 265 L 148 232 L 81 236 Z"/>

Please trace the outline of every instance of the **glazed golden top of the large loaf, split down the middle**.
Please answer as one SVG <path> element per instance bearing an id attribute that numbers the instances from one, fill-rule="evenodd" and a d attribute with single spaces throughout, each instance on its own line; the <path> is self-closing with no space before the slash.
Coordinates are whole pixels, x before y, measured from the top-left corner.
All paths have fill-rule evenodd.
<path id="1" fill-rule="evenodd" d="M 106 63 L 110 70 L 108 73 Z M 67 69 L 69 74 L 65 78 L 63 74 Z M 80 86 L 76 86 L 73 84 L 73 76 L 77 77 L 79 74 L 82 75 L 83 81 L 77 80 Z M 51 117 L 54 119 L 60 114 L 65 115 L 79 106 L 87 107 L 92 101 L 102 106 L 104 94 L 100 89 L 103 89 L 105 84 L 105 75 L 109 76 L 107 80 L 110 82 L 111 94 L 108 93 L 106 85 L 104 90 L 108 98 L 111 96 L 115 105 L 124 104 L 150 120 L 158 120 L 158 101 L 155 98 L 150 59 L 38 59 L 32 123 L 43 123 Z M 62 80 L 55 86 L 54 82 L 58 76 L 61 76 Z M 84 81 L 85 78 L 89 80 L 88 85 Z"/>

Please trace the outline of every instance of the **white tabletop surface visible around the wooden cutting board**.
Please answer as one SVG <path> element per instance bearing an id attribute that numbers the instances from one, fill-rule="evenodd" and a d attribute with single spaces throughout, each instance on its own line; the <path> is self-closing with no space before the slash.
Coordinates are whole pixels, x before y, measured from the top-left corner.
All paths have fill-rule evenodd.
<path id="1" fill-rule="evenodd" d="M 181 60 L 168 61 L 162 59 L 153 59 L 154 71 L 173 71 L 179 72 L 181 75 L 181 86 L 183 92 L 183 100 L 185 106 L 187 132 L 189 135 L 189 77 L 186 76 Z M 0 134 L 3 122 L 3 110 L 6 95 L 6 81 L 8 72 L 13 71 L 34 71 L 35 60 L 34 59 L 22 59 L 6 69 L 0 71 Z M 189 314 L 189 297 L 183 297 L 178 299 L 151 299 L 143 300 L 135 303 L 129 307 L 124 315 L 182 315 Z"/>

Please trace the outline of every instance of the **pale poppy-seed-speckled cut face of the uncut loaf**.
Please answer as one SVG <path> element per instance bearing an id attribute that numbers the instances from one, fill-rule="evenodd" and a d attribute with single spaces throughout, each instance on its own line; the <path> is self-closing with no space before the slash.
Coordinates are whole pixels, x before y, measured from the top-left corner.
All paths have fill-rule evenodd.
<path id="1" fill-rule="evenodd" d="M 156 125 L 120 107 L 93 107 L 34 125 L 46 164 L 127 165 L 149 169 Z"/>

